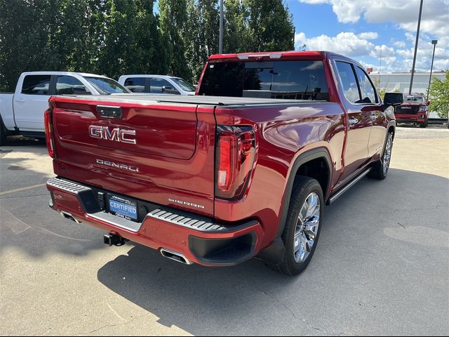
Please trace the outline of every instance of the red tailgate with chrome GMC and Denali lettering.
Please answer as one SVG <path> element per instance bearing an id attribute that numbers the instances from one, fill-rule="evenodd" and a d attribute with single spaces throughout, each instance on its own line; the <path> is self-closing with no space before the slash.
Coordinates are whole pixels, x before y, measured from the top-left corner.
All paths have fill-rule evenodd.
<path id="1" fill-rule="evenodd" d="M 213 216 L 213 105 L 55 96 L 55 173 Z"/>

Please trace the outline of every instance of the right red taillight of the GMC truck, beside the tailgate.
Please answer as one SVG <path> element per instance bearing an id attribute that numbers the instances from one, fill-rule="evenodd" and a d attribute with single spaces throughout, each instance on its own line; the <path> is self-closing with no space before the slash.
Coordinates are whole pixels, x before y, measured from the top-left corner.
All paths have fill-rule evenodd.
<path id="1" fill-rule="evenodd" d="M 251 126 L 217 126 L 216 197 L 242 197 L 253 170 L 255 152 L 255 133 Z"/>

